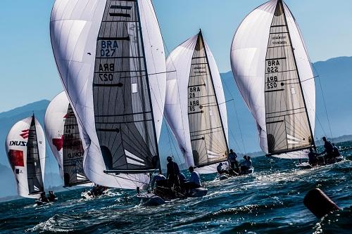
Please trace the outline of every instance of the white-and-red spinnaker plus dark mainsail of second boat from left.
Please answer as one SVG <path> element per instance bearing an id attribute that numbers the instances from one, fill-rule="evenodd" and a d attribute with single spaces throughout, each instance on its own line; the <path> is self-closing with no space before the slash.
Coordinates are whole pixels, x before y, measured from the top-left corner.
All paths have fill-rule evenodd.
<path id="1" fill-rule="evenodd" d="M 56 96 L 44 117 L 45 134 L 58 161 L 64 187 L 92 186 L 83 170 L 83 146 L 75 113 L 65 92 Z"/>

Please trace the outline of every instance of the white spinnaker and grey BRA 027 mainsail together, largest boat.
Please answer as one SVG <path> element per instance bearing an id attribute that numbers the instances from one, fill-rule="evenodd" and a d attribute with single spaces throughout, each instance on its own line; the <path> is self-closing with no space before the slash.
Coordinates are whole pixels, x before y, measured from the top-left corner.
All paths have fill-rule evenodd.
<path id="1" fill-rule="evenodd" d="M 150 0 L 57 0 L 56 64 L 80 124 L 84 172 L 94 183 L 149 183 L 165 102 L 165 55 Z M 114 176 L 106 170 L 130 171 Z"/>

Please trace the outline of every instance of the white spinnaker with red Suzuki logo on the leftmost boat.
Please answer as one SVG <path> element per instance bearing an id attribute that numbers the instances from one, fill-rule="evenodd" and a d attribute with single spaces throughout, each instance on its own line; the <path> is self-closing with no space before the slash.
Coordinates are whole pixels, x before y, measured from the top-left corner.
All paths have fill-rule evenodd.
<path id="1" fill-rule="evenodd" d="M 34 131 L 30 130 L 32 118 L 33 117 L 27 117 L 13 125 L 6 138 L 6 153 L 8 155 L 8 162 L 10 162 L 11 169 L 15 176 L 18 195 L 21 197 L 39 198 L 39 193 L 44 190 L 45 136 L 42 126 L 40 126 L 37 119 L 34 118 L 35 132 L 37 135 L 37 150 L 35 150 L 35 157 L 38 159 L 39 155 L 39 160 L 34 160 L 32 166 L 40 171 L 39 173 L 28 175 L 30 171 L 28 171 L 27 158 L 30 157 L 30 155 L 27 154 L 27 144 L 29 138 L 32 138 L 30 134 L 32 135 L 34 133 Z M 38 163 L 40 163 L 40 167 L 37 167 L 39 166 Z M 29 178 L 35 178 L 35 182 L 29 183 Z M 31 191 L 37 194 L 30 194 Z"/>

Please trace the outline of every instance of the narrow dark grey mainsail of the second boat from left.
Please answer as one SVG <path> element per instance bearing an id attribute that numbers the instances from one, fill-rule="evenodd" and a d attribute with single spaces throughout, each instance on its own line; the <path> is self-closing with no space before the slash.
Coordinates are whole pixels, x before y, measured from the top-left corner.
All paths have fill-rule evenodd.
<path id="1" fill-rule="evenodd" d="M 83 146 L 77 119 L 70 104 L 63 131 L 63 176 L 64 186 L 77 186 L 90 182 L 84 174 Z"/>

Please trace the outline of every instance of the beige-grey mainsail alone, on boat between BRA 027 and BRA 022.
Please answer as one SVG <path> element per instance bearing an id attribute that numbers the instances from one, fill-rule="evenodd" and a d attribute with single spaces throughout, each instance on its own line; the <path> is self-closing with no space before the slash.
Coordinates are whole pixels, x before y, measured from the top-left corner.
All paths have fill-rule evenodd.
<path id="1" fill-rule="evenodd" d="M 191 60 L 188 119 L 196 167 L 226 160 L 227 141 L 201 33 Z"/>

